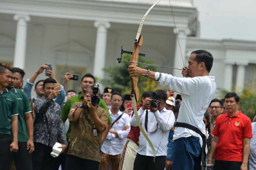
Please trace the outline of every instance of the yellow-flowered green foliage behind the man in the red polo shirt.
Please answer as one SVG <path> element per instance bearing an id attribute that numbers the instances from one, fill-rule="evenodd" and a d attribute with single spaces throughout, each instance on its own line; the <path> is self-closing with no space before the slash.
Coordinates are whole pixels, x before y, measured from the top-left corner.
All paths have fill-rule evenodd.
<path id="1" fill-rule="evenodd" d="M 234 88 L 236 89 L 236 88 Z M 228 93 L 227 90 L 218 89 L 219 96 L 224 99 L 225 95 Z M 236 92 L 236 91 L 231 91 Z M 243 114 L 247 115 L 251 120 L 253 120 L 256 113 L 256 93 L 251 90 L 251 88 L 245 87 L 241 92 L 236 92 L 240 98 L 240 104 L 238 109 L 242 111 Z"/>

